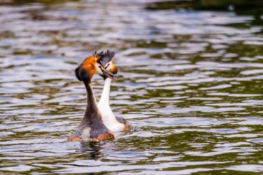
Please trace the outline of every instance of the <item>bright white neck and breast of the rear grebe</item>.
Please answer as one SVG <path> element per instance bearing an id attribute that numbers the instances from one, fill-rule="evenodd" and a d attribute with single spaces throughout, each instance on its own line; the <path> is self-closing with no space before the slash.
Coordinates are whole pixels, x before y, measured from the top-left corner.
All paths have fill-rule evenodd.
<path id="1" fill-rule="evenodd" d="M 98 109 L 102 114 L 102 121 L 106 127 L 112 132 L 123 131 L 123 124 L 116 120 L 114 113 L 109 107 L 109 91 L 111 90 L 111 79 L 107 77 L 103 87 L 100 102 L 98 102 Z"/>

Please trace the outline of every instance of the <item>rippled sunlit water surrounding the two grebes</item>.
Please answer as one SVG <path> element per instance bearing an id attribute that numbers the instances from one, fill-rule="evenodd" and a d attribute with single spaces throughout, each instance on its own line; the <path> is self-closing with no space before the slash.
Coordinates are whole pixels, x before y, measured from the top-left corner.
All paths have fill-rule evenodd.
<path id="1" fill-rule="evenodd" d="M 0 4 L 0 174 L 262 174 L 263 37 L 252 15 Z M 111 109 L 134 131 L 66 142 L 86 100 L 73 70 L 108 48 L 119 68 Z M 94 77 L 97 99 L 102 86 Z"/>

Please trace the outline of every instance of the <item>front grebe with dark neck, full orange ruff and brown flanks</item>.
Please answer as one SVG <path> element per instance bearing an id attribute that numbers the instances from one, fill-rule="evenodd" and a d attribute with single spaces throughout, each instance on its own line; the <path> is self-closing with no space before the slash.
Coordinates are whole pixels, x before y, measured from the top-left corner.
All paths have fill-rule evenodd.
<path id="1" fill-rule="evenodd" d="M 93 51 L 93 54 L 75 69 L 75 76 L 82 81 L 87 89 L 87 107 L 84 117 L 77 131 L 68 137 L 67 141 L 91 141 L 113 140 L 114 134 L 107 129 L 102 122 L 102 115 L 97 107 L 96 98 L 91 85 L 91 78 L 95 73 L 114 79 L 115 75 L 105 70 L 102 65 L 102 57 L 105 52 Z"/>

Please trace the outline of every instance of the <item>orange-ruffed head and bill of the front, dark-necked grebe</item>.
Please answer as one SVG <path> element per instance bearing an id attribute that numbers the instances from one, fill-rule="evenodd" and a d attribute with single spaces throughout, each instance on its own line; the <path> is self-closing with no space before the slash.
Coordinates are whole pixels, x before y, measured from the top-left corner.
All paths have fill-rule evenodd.
<path id="1" fill-rule="evenodd" d="M 102 59 L 105 56 L 104 51 L 93 51 L 92 55 L 84 59 L 82 64 L 75 68 L 75 75 L 80 81 L 91 81 L 94 74 L 103 75 L 115 80 L 116 75 L 106 70 L 102 64 Z M 107 64 L 107 62 L 105 62 Z"/>

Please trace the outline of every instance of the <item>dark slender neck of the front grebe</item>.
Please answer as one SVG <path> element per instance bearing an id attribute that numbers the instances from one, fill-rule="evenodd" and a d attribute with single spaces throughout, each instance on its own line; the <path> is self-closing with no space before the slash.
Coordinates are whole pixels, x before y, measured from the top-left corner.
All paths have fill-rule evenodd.
<path id="1" fill-rule="evenodd" d="M 87 89 L 87 107 L 83 119 L 86 120 L 87 122 L 91 122 L 95 124 L 99 120 L 102 121 L 102 116 L 96 104 L 96 98 L 93 93 L 91 82 L 84 82 L 84 84 Z"/>

